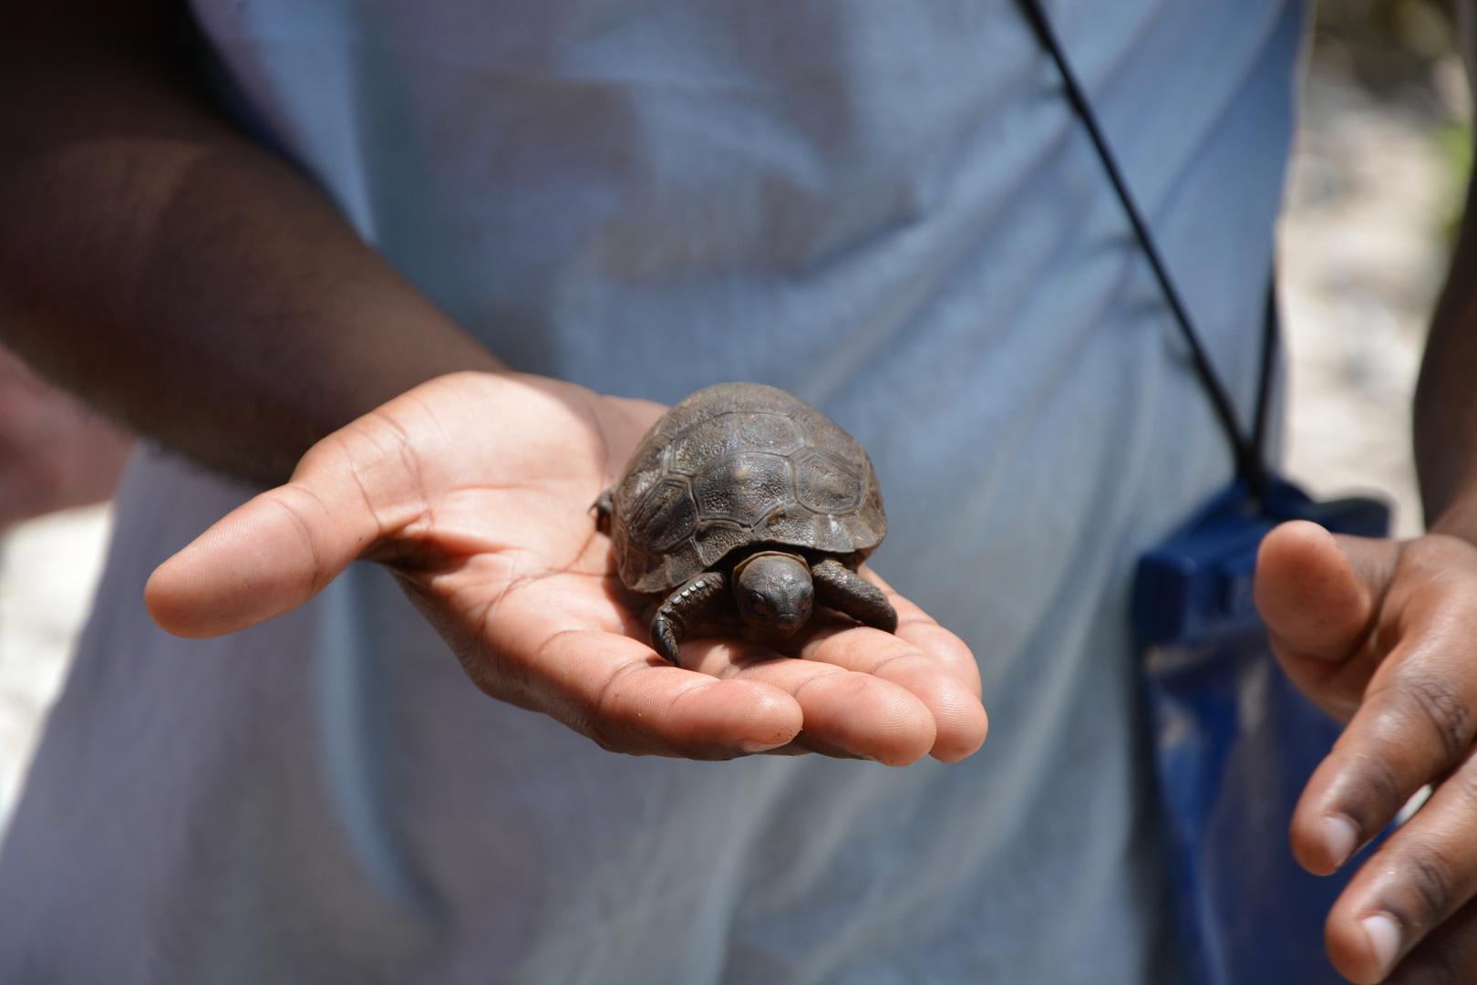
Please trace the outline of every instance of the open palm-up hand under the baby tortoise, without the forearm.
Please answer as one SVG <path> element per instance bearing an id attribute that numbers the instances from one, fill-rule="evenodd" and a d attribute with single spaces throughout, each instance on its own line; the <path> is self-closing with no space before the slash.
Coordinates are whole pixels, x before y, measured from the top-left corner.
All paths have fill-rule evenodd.
<path id="1" fill-rule="evenodd" d="M 662 408 L 541 377 L 431 380 L 328 436 L 165 561 L 146 603 L 211 636 L 303 604 L 356 558 L 387 566 L 489 696 L 603 747 L 693 759 L 775 750 L 902 765 L 985 738 L 969 648 L 876 582 L 897 635 L 818 617 L 780 654 L 744 638 L 648 645 L 591 505 Z"/>

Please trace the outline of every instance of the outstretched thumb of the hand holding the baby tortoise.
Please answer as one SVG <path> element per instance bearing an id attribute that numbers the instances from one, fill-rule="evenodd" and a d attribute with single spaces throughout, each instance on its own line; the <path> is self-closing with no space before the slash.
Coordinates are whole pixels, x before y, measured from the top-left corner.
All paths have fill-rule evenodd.
<path id="1" fill-rule="evenodd" d="M 254 626 L 318 595 L 374 545 L 387 517 L 363 476 L 332 450 L 315 447 L 292 481 L 230 511 L 155 569 L 143 589 L 154 622 L 191 638 Z"/>

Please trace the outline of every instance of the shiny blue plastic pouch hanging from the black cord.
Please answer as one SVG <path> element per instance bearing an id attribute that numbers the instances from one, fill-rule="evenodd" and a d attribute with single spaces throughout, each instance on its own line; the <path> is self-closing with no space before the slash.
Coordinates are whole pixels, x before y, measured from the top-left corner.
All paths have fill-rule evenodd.
<path id="1" fill-rule="evenodd" d="M 1387 536 L 1377 499 L 1313 502 L 1233 483 L 1139 561 L 1134 631 L 1158 759 L 1185 975 L 1196 985 L 1344 985 L 1323 920 L 1357 865 L 1317 877 L 1288 848 L 1304 784 L 1341 725 L 1282 673 L 1252 603 L 1257 548 L 1285 520 Z"/>

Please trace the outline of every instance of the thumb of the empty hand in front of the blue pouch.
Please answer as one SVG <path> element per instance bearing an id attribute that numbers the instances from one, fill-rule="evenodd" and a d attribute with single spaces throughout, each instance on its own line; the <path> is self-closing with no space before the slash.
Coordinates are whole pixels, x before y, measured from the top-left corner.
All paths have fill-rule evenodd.
<path id="1" fill-rule="evenodd" d="M 1369 632 L 1394 570 L 1390 540 L 1335 538 L 1292 520 L 1261 540 L 1255 600 L 1284 657 L 1338 662 Z M 1385 555 L 1391 557 L 1385 557 Z"/>

